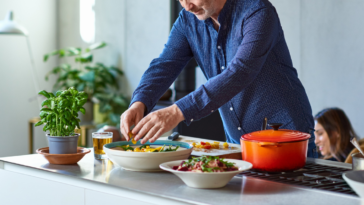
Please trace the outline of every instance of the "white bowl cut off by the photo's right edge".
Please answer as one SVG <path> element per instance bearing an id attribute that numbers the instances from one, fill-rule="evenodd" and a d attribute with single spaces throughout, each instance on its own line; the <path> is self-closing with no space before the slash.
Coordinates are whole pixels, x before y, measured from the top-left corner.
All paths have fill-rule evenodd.
<path id="1" fill-rule="evenodd" d="M 364 199 L 364 170 L 345 172 L 343 178 L 360 198 Z"/>

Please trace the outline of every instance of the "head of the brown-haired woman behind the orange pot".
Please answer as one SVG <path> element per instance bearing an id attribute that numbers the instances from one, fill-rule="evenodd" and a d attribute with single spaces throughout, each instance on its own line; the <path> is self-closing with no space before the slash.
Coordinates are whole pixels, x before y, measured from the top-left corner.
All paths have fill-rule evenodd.
<path id="1" fill-rule="evenodd" d="M 315 116 L 315 144 L 323 159 L 344 162 L 354 149 L 351 137 L 358 139 L 348 117 L 340 108 L 327 108 Z"/>

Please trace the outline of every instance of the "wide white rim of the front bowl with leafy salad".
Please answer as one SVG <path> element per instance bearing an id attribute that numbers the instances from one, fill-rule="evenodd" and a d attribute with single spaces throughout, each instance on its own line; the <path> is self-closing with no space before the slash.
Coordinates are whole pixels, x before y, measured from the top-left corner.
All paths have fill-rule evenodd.
<path id="1" fill-rule="evenodd" d="M 181 164 L 182 161 L 186 161 L 188 159 L 185 159 L 185 160 L 174 160 L 174 161 L 169 161 L 169 162 L 164 162 L 162 164 L 159 165 L 159 167 L 165 171 L 169 171 L 169 172 L 172 172 L 172 173 L 184 173 L 184 174 L 200 174 L 200 175 L 223 175 L 223 174 L 238 174 L 238 173 L 241 173 L 243 171 L 246 171 L 246 170 L 249 170 L 253 167 L 253 164 L 250 163 L 250 162 L 247 162 L 247 161 L 244 161 L 244 160 L 239 160 L 239 159 L 228 159 L 228 158 L 224 158 L 224 160 L 227 160 L 227 161 L 230 161 L 230 162 L 243 162 L 243 163 L 246 163 L 249 167 L 248 168 L 243 168 L 243 169 L 240 169 L 241 167 L 239 167 L 239 170 L 236 170 L 236 171 L 227 171 L 227 172 L 186 172 L 186 171 L 177 171 L 177 170 L 174 170 L 172 168 L 168 168 L 166 167 L 166 164 L 168 163 L 176 163 L 175 166 L 177 166 L 177 164 Z"/>

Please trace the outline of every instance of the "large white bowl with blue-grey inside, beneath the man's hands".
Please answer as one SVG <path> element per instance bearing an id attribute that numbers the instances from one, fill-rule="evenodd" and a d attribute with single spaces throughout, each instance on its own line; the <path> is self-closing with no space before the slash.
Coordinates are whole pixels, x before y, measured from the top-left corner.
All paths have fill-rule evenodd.
<path id="1" fill-rule="evenodd" d="M 157 140 L 154 143 L 147 143 L 152 146 L 179 145 L 177 151 L 172 152 L 126 152 L 122 150 L 113 149 L 116 146 L 129 145 L 140 146 L 140 142 L 133 144 L 132 142 L 119 141 L 104 145 L 104 151 L 108 158 L 119 165 L 123 169 L 131 171 L 162 171 L 159 165 L 163 162 L 172 160 L 187 159 L 193 149 L 193 146 L 186 142 L 177 142 L 169 140 Z"/>

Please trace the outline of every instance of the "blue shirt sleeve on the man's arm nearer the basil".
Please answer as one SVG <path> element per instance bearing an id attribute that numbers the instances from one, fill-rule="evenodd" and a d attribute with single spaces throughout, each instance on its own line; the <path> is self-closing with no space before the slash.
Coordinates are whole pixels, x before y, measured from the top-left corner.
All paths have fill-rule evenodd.
<path id="1" fill-rule="evenodd" d="M 152 110 L 193 56 L 184 29 L 183 18 L 179 17 L 163 52 L 151 62 L 133 93 L 131 104 L 136 101 L 143 102 L 147 108 L 145 114 Z"/>

